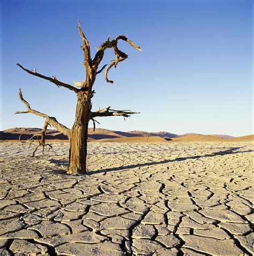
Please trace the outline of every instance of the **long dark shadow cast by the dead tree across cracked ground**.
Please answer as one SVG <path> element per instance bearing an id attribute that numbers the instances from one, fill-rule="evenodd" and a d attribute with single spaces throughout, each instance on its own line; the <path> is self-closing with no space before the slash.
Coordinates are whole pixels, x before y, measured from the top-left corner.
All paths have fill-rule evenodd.
<path id="1" fill-rule="evenodd" d="M 112 172 L 112 171 L 117 171 L 117 170 L 124 170 L 124 169 L 132 169 L 132 168 L 137 168 L 137 167 L 144 167 L 144 166 L 152 166 L 152 165 L 161 165 L 163 163 L 169 163 L 169 162 L 176 162 L 176 161 L 185 161 L 188 159 L 199 159 L 199 158 L 207 158 L 207 157 L 216 157 L 218 155 L 227 155 L 227 154 L 237 154 L 237 153 L 247 153 L 247 152 L 253 152 L 254 150 L 246 150 L 246 151 L 237 151 L 242 147 L 231 147 L 226 151 L 219 151 L 215 152 L 212 154 L 205 154 L 205 155 L 195 155 L 193 157 L 184 157 L 184 158 L 175 158 L 175 159 L 165 159 L 162 161 L 158 162 L 146 162 L 146 163 L 137 163 L 136 165 L 126 165 L 126 166 L 119 166 L 119 167 L 113 167 L 113 168 L 106 168 L 106 169 L 101 169 L 101 170 L 93 170 L 93 171 L 88 171 L 88 175 L 92 175 L 94 173 L 107 173 L 107 172 Z M 68 166 L 68 161 L 66 160 L 55 160 L 51 159 L 50 162 L 55 163 L 57 166 Z M 55 171 L 59 172 L 59 171 Z M 84 174 L 84 175 L 87 175 Z"/>

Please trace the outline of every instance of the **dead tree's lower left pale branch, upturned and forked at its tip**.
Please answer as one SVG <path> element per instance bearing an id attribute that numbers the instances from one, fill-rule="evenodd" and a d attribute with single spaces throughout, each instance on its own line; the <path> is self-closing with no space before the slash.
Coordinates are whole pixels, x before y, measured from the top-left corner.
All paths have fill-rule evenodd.
<path id="1" fill-rule="evenodd" d="M 20 100 L 26 104 L 27 106 L 27 110 L 25 111 L 17 111 L 15 112 L 16 114 L 20 114 L 20 113 L 33 113 L 34 115 L 36 116 L 41 116 L 43 117 L 46 122 L 51 125 L 51 126 L 54 126 L 56 128 L 57 131 L 59 132 L 62 132 L 65 136 L 67 136 L 69 138 L 70 136 L 70 129 L 68 129 L 66 126 L 64 126 L 63 124 L 57 122 L 56 118 L 55 117 L 50 117 L 44 113 L 41 113 L 39 111 L 36 111 L 34 109 L 31 109 L 29 103 L 23 98 L 23 95 L 21 93 L 21 90 L 19 89 L 19 98 Z"/>

